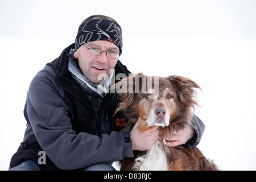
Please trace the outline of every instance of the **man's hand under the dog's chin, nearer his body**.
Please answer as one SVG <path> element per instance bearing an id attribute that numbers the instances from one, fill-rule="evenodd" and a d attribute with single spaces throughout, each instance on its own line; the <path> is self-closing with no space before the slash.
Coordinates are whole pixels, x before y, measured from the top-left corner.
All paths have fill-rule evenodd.
<path id="1" fill-rule="evenodd" d="M 135 123 L 133 130 L 130 132 L 131 142 L 133 143 L 133 150 L 145 151 L 150 150 L 154 143 L 159 139 L 159 126 L 151 126 L 147 130 L 139 129 L 138 126 L 142 124 L 141 117 Z"/>

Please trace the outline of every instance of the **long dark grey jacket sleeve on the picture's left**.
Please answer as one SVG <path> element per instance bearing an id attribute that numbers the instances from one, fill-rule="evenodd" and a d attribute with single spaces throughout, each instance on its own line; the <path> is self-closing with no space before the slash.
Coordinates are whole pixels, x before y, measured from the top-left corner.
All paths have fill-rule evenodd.
<path id="1" fill-rule="evenodd" d="M 76 134 L 68 117 L 62 90 L 46 66 L 32 80 L 25 109 L 35 137 L 52 162 L 61 169 L 76 169 L 97 163 L 114 162 L 133 156 L 131 142 L 113 131 L 101 138 Z"/>

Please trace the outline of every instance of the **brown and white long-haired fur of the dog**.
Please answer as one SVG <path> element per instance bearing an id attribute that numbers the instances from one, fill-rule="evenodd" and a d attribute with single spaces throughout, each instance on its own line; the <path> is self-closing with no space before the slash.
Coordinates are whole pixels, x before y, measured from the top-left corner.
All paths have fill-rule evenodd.
<path id="1" fill-rule="evenodd" d="M 120 94 L 121 103 L 117 109 L 122 110 L 130 120 L 122 132 L 131 131 L 138 117 L 143 119 L 139 125 L 140 130 L 147 130 L 154 125 L 160 129 L 160 139 L 154 147 L 148 151 L 134 151 L 134 158 L 125 158 L 119 162 L 120 169 L 218 170 L 198 148 L 167 147 L 165 144 L 173 131 L 193 127 L 192 109 L 198 105 L 195 100 L 195 89 L 201 89 L 200 86 L 181 76 L 157 78 L 158 80 L 156 77 L 147 77 L 139 73 L 115 84 L 115 88 L 126 91 Z M 152 80 L 152 84 L 148 80 Z M 159 81 L 159 88 L 155 81 Z M 146 90 L 143 90 L 143 84 L 148 84 Z"/>

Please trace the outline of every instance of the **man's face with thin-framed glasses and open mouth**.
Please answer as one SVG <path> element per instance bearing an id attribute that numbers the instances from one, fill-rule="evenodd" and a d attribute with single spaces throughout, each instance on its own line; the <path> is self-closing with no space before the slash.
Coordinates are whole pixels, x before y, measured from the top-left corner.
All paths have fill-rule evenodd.
<path id="1" fill-rule="evenodd" d="M 102 51 L 118 51 L 119 49 L 113 43 L 97 40 L 89 43 L 85 43 L 84 46 L 90 48 L 100 48 Z M 100 56 L 94 56 L 89 53 L 89 49 L 80 46 L 74 53 L 74 57 L 79 61 L 79 67 L 82 73 L 94 84 L 100 83 L 102 80 L 98 80 L 100 73 L 105 73 L 110 76 L 110 69 L 114 69 L 117 64 L 116 59 L 112 59 L 106 56 L 106 52 L 102 52 Z"/>

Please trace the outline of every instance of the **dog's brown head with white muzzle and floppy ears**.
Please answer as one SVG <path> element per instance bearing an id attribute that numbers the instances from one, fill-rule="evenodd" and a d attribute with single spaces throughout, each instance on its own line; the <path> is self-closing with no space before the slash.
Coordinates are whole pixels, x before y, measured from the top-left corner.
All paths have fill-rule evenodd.
<path id="1" fill-rule="evenodd" d="M 131 122 L 141 117 L 145 127 L 164 127 L 166 135 L 170 135 L 173 130 L 191 125 L 191 110 L 198 105 L 196 88 L 200 86 L 185 77 L 150 77 L 139 73 L 115 85 L 121 97 L 117 111 L 122 110 Z"/>

